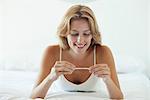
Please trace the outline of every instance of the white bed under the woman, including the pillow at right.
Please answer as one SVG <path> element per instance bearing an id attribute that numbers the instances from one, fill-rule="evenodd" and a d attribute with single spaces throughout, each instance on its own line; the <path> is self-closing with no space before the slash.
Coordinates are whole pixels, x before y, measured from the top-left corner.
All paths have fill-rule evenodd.
<path id="1" fill-rule="evenodd" d="M 131 56 L 115 58 L 116 70 L 125 100 L 150 100 L 150 78 L 145 73 L 146 66 L 143 62 Z M 8 63 L 7 68 L 0 70 L 0 100 L 28 100 L 38 71 L 30 70 L 31 65 L 28 65 L 30 69 L 26 70 L 20 69 L 21 65 L 18 68 L 9 69 L 10 62 Z M 56 92 L 54 90 L 57 90 L 55 84 L 49 89 L 47 100 L 108 99 L 107 93 L 99 95 L 99 93 Z M 101 86 L 101 91 L 106 92 L 104 86 Z"/>

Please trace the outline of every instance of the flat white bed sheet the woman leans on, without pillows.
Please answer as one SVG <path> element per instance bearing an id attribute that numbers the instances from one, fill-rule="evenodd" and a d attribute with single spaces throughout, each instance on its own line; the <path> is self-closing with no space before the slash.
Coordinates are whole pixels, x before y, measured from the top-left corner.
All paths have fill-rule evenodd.
<path id="1" fill-rule="evenodd" d="M 27 100 L 37 72 L 0 71 L 0 100 Z M 150 80 L 143 73 L 118 74 L 125 99 L 150 100 Z M 103 100 L 97 93 L 54 92 L 49 100 Z"/>

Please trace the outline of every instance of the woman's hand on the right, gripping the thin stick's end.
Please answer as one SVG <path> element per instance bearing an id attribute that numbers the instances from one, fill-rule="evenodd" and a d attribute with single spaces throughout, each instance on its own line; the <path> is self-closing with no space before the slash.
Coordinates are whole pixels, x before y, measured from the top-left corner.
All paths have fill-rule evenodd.
<path id="1" fill-rule="evenodd" d="M 97 77 L 106 78 L 110 77 L 111 72 L 107 64 L 96 64 L 89 68 L 89 72 L 93 73 Z"/>

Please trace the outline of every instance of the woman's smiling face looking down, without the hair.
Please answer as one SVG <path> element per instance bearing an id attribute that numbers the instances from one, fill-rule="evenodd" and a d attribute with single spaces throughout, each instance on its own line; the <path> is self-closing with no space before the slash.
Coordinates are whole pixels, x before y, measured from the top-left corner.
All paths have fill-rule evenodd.
<path id="1" fill-rule="evenodd" d="M 92 40 L 92 34 L 87 20 L 73 20 L 70 27 L 70 34 L 67 36 L 70 49 L 76 54 L 85 53 Z"/>

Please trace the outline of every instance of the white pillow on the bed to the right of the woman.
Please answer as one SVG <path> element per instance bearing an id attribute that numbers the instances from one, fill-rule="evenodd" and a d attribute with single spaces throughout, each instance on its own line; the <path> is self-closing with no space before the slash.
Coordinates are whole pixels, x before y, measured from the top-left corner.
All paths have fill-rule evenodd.
<path id="1" fill-rule="evenodd" d="M 141 59 L 129 55 L 117 55 L 115 63 L 118 73 L 144 72 L 146 69 Z"/>

